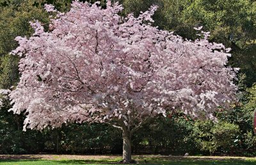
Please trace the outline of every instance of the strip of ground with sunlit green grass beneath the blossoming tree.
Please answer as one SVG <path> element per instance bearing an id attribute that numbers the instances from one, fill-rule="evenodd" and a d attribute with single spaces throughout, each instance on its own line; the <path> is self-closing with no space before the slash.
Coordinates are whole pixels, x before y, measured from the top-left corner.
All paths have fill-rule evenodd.
<path id="1" fill-rule="evenodd" d="M 0 164 L 10 165 L 73 165 L 73 164 L 117 164 L 121 156 L 114 155 L 0 155 Z M 249 165 L 256 164 L 255 157 L 175 157 L 161 155 L 135 155 L 140 164 L 173 165 Z M 146 162 L 146 163 L 145 163 Z"/>

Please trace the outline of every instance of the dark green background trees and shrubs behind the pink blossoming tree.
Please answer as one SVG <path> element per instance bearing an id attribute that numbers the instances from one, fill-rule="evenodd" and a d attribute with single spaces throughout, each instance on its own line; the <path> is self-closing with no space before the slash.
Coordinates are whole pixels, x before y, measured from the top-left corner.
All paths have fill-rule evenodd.
<path id="1" fill-rule="evenodd" d="M 90 1 L 91 3 L 95 1 Z M 102 6 L 106 1 L 102 0 Z M 40 20 L 47 30 L 49 15 L 44 4 L 68 11 L 71 0 L 0 0 L 0 88 L 19 81 L 19 58 L 8 53 L 17 47 L 15 36 L 30 36 L 30 20 Z M 168 114 L 145 125 L 133 136 L 133 152 L 182 155 L 255 155 L 253 111 L 256 108 L 256 1 L 251 0 L 122 0 L 124 12 L 139 15 L 150 5 L 159 9 L 154 25 L 195 40 L 194 27 L 204 26 L 211 41 L 232 48 L 230 65 L 241 68 L 239 103 L 231 111 L 220 109 L 218 123 L 193 120 L 182 113 Z M 0 153 L 121 153 L 122 132 L 108 125 L 68 124 L 43 132 L 22 132 L 24 115 L 0 110 Z"/>

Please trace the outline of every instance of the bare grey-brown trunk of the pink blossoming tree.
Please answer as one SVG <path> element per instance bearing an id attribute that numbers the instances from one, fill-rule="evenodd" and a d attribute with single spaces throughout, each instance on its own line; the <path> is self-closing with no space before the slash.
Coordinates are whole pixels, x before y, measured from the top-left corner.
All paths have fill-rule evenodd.
<path id="1" fill-rule="evenodd" d="M 123 130 L 123 161 L 129 163 L 132 160 L 131 132 Z"/>

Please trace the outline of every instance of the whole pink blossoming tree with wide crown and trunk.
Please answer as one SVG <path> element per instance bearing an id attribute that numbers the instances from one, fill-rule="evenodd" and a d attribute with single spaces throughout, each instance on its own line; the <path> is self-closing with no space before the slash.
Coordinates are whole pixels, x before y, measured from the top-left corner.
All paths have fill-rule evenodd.
<path id="1" fill-rule="evenodd" d="M 207 116 L 233 100 L 234 69 L 228 49 L 205 38 L 191 42 L 150 25 L 156 10 L 118 15 L 122 6 L 74 1 L 56 13 L 49 32 L 18 36 L 20 82 L 11 91 L 12 111 L 26 111 L 24 130 L 67 122 L 108 123 L 123 131 L 123 159 L 131 162 L 131 136 L 166 111 Z M 199 29 L 200 30 L 200 29 Z"/>

